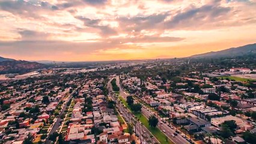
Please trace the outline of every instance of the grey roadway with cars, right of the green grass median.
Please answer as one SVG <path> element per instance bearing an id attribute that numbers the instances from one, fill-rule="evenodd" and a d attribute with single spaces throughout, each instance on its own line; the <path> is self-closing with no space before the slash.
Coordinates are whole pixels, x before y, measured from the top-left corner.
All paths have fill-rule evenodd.
<path id="1" fill-rule="evenodd" d="M 115 77 L 117 79 L 117 86 L 120 87 L 120 96 L 123 97 L 125 100 L 126 100 L 126 97 L 129 95 L 129 94 L 126 94 L 126 92 L 123 91 L 123 89 L 121 88 L 120 86 L 120 79 L 119 77 Z M 136 103 L 136 101 L 135 101 Z M 142 107 L 141 109 L 141 112 L 144 116 L 146 116 L 147 118 L 149 118 L 151 115 L 153 115 L 151 112 L 149 112 L 147 109 L 145 109 L 144 107 Z M 177 136 L 175 137 L 172 137 L 172 134 L 175 133 L 175 129 L 172 129 L 171 127 L 169 127 L 167 124 L 163 123 L 160 119 L 159 116 L 156 116 L 159 120 L 159 123 L 157 125 L 157 128 L 159 128 L 161 131 L 165 130 L 165 135 L 169 137 L 169 139 L 172 140 L 172 142 L 174 143 L 177 143 L 177 144 L 180 144 L 180 143 L 189 143 L 186 139 L 184 139 L 184 137 L 181 136 L 181 134 L 178 134 Z M 161 125 L 162 123 L 162 125 Z"/>

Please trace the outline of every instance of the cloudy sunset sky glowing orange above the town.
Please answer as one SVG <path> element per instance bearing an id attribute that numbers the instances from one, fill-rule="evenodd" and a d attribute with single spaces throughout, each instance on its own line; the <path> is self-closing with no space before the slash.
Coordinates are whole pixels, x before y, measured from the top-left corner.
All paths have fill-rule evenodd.
<path id="1" fill-rule="evenodd" d="M 0 0 L 0 56 L 181 58 L 256 43 L 256 0 Z"/>

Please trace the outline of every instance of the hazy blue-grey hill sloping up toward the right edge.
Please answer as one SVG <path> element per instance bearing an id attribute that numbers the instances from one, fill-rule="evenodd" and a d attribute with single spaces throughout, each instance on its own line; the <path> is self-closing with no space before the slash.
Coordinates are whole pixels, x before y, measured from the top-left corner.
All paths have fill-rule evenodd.
<path id="1" fill-rule="evenodd" d="M 256 43 L 248 44 L 240 47 L 232 47 L 230 49 L 221 50 L 218 52 L 208 52 L 199 55 L 190 56 L 192 58 L 222 58 L 222 57 L 234 57 L 243 55 L 256 54 Z"/>

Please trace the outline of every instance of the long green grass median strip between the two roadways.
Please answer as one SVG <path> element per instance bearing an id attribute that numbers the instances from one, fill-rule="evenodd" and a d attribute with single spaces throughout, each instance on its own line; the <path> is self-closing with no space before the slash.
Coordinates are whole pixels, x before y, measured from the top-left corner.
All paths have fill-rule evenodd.
<path id="1" fill-rule="evenodd" d="M 124 106 L 126 106 L 128 109 L 130 109 L 130 106 L 126 103 L 126 100 L 124 100 L 123 97 L 118 97 L 124 104 Z M 162 133 L 162 131 L 160 131 L 158 128 L 153 128 L 150 127 L 150 125 L 148 124 L 148 119 L 142 115 L 141 113 L 133 113 L 137 118 L 139 118 L 139 121 L 141 121 L 141 123 L 154 135 L 154 137 L 156 137 L 156 139 L 160 142 L 160 143 L 173 143 L 170 139 L 168 139 L 166 141 L 166 137 L 165 134 Z"/>

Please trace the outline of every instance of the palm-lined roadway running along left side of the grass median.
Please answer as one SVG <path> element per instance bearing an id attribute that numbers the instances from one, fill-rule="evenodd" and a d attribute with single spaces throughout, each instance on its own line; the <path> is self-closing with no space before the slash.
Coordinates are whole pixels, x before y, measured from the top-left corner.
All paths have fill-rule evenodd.
<path id="1" fill-rule="evenodd" d="M 137 119 L 135 119 L 135 116 L 132 114 L 132 112 L 130 112 L 130 110 L 127 109 L 127 107 L 124 106 L 124 104 L 120 103 L 118 98 L 114 94 L 112 94 L 111 80 L 109 80 L 109 82 L 108 82 L 109 98 L 111 98 L 112 100 L 114 100 L 117 103 L 117 109 L 121 113 L 123 118 L 126 120 L 126 122 L 132 123 L 136 127 L 136 128 L 134 127 L 136 136 L 139 137 L 140 142 L 142 144 L 146 144 L 148 142 L 160 143 L 156 139 L 156 137 L 151 137 L 151 136 L 153 136 L 153 134 L 151 134 L 150 131 L 148 131 L 148 129 L 143 124 L 141 124 L 141 122 L 139 122 Z M 123 91 L 121 91 L 121 94 L 125 94 L 125 93 Z"/>

